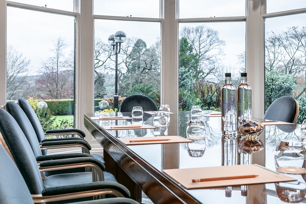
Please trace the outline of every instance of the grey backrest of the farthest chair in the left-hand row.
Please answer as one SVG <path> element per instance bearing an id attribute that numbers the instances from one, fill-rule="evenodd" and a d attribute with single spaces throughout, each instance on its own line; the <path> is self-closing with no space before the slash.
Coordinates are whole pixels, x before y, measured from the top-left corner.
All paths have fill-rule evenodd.
<path id="1" fill-rule="evenodd" d="M 31 107 L 31 105 L 28 103 L 27 100 L 25 100 L 24 98 L 19 98 L 17 100 L 18 105 L 21 107 L 21 109 L 24 111 L 25 115 L 27 115 L 28 119 L 30 120 L 38 142 L 43 141 L 44 139 L 46 139 L 45 137 L 45 133 L 43 132 L 43 128 L 41 127 L 41 124 L 39 122 L 39 119 L 35 113 L 35 111 L 33 110 L 33 108 Z M 47 155 L 47 149 L 41 150 L 43 155 Z"/>

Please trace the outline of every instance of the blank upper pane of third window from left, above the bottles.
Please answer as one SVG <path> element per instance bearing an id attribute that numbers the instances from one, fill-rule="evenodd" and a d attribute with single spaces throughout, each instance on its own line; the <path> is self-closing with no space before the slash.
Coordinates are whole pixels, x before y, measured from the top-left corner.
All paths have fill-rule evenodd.
<path id="1" fill-rule="evenodd" d="M 180 0 L 180 18 L 245 16 L 245 0 Z"/>

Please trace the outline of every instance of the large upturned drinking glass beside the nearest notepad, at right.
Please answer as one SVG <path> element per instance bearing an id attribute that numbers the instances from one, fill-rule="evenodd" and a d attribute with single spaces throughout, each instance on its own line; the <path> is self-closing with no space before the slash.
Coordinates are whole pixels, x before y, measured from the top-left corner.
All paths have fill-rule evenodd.
<path id="1" fill-rule="evenodd" d="M 304 174 L 306 150 L 299 140 L 282 140 L 274 154 L 276 171 L 288 174 Z"/>

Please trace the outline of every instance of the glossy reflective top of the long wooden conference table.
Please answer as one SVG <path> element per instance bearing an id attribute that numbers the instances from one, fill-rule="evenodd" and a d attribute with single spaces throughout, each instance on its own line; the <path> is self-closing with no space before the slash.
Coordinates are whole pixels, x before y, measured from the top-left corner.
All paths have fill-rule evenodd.
<path id="1" fill-rule="evenodd" d="M 205 112 L 207 113 L 207 112 Z M 85 114 L 86 116 L 131 116 L 130 113 L 95 113 Z M 94 120 L 100 127 L 103 125 L 130 125 L 144 123 L 153 125 L 153 116 L 144 113 L 144 121 L 135 119 L 129 120 Z M 204 117 L 202 121 L 205 125 L 205 140 L 192 143 L 176 144 L 152 144 L 152 145 L 131 145 L 127 149 L 135 153 L 154 170 L 162 172 L 163 169 L 172 168 L 198 168 L 235 164 L 259 164 L 275 170 L 274 150 L 278 142 L 282 139 L 300 138 L 300 128 L 298 125 L 269 125 L 265 126 L 264 132 L 259 136 L 259 140 L 248 141 L 241 135 L 236 134 L 236 138 L 225 138 L 221 134 L 221 117 Z M 178 111 L 170 114 L 170 124 L 168 127 L 158 127 L 156 129 L 142 130 L 107 130 L 114 138 L 124 137 L 152 137 L 179 135 L 186 137 L 187 123 L 191 119 L 189 111 Z M 118 141 L 120 143 L 120 141 Z M 253 153 L 241 153 L 241 146 L 258 145 L 262 143 L 263 149 Z M 124 145 L 124 144 L 123 144 Z M 175 185 L 195 198 L 199 203 L 285 203 L 282 200 L 293 201 L 291 198 L 294 188 L 302 195 L 306 193 L 305 175 L 292 175 L 297 178 L 297 182 L 290 183 L 266 183 L 248 186 L 218 187 L 214 189 L 185 190 L 179 183 L 173 181 Z M 299 183 L 300 182 L 300 183 Z M 277 190 L 277 191 L 276 191 Z M 289 195 L 285 195 L 289 192 Z M 285 196 L 284 196 L 285 195 Z M 306 199 L 305 199 L 306 200 Z M 305 202 L 305 200 L 300 200 Z M 298 203 L 298 202 L 297 202 Z"/>

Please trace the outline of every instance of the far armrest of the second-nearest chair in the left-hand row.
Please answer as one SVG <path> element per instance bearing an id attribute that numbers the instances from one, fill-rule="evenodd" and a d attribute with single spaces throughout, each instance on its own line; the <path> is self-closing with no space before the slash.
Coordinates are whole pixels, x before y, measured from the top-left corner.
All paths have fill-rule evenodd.
<path id="1" fill-rule="evenodd" d="M 77 164 L 83 164 L 83 166 L 76 166 Z M 39 163 L 40 171 L 53 171 L 53 170 L 61 170 L 63 168 L 61 167 L 68 167 L 73 166 L 70 168 L 76 168 L 76 167 L 85 167 L 84 164 L 94 164 L 99 170 L 105 171 L 105 165 L 99 161 L 96 158 L 93 157 L 77 157 L 77 158 L 68 158 L 68 159 L 57 159 L 57 160 L 48 160 L 48 161 L 42 161 Z M 56 167 L 59 167 L 59 169 L 54 169 Z M 91 166 L 92 167 L 92 166 Z M 52 169 L 49 169 L 52 168 Z M 68 168 L 65 168 L 68 169 Z M 103 172 L 102 172 L 103 173 Z"/>

